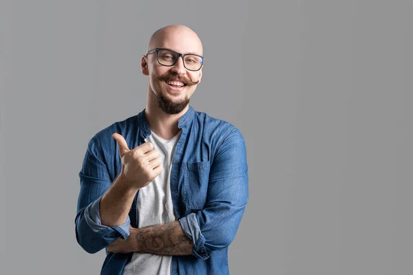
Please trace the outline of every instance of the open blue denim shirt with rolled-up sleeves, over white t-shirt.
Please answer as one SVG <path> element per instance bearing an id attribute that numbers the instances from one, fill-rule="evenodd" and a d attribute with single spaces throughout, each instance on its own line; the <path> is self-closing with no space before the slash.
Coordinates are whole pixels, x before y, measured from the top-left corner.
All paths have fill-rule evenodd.
<path id="1" fill-rule="evenodd" d="M 229 274 L 228 246 L 233 241 L 248 201 L 246 146 L 231 123 L 195 111 L 191 105 L 178 121 L 182 134 L 171 166 L 171 196 L 176 217 L 193 241 L 193 254 L 173 256 L 171 274 Z M 78 174 L 81 189 L 76 214 L 76 240 L 96 253 L 137 228 L 138 193 L 127 221 L 119 226 L 100 223 L 99 201 L 122 169 L 113 133 L 125 137 L 129 148 L 151 134 L 145 109 L 98 131 L 89 141 Z M 106 250 L 100 274 L 123 274 L 133 253 Z"/>

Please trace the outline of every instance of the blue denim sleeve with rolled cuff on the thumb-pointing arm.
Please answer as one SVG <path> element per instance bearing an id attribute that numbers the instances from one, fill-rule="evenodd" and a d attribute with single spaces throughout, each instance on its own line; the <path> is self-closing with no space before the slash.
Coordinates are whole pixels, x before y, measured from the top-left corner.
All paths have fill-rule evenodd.
<path id="1" fill-rule="evenodd" d="M 75 219 L 76 240 L 89 253 L 96 253 L 119 237 L 129 236 L 129 216 L 122 225 L 105 226 L 100 220 L 99 205 L 103 194 L 112 184 L 107 166 L 101 160 L 102 151 L 95 137 L 89 141 L 81 172 L 81 190 Z"/>

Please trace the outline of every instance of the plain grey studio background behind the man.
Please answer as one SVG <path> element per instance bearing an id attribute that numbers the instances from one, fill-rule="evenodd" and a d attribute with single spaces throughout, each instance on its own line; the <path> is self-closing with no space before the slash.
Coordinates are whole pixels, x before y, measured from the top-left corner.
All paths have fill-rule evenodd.
<path id="1" fill-rule="evenodd" d="M 0 273 L 98 274 L 105 253 L 74 235 L 87 142 L 145 108 L 149 36 L 182 23 L 207 56 L 192 106 L 246 140 L 231 274 L 412 274 L 412 11 L 410 0 L 1 1 Z"/>

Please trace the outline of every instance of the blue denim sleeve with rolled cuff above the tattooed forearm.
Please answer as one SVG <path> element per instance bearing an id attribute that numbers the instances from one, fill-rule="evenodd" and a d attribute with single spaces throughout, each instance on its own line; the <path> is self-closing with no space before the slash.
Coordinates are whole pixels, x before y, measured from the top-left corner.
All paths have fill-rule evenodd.
<path id="1" fill-rule="evenodd" d="M 242 134 L 234 127 L 215 153 L 206 206 L 179 220 L 193 241 L 193 254 L 208 259 L 214 250 L 228 247 L 235 238 L 247 202 L 246 146 Z"/>

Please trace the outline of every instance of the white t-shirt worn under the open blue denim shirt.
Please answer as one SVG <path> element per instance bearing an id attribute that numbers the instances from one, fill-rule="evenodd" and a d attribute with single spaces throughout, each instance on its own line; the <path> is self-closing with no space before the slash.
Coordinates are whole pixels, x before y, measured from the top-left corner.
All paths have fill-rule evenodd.
<path id="1" fill-rule="evenodd" d="M 138 228 L 149 225 L 165 224 L 176 221 L 171 199 L 171 164 L 173 152 L 182 130 L 165 140 L 155 133 L 145 139 L 151 142 L 153 148 L 159 151 L 162 161 L 162 172 L 147 186 L 140 188 L 138 194 Z M 172 256 L 135 252 L 132 259 L 125 266 L 124 275 L 164 275 L 171 274 Z"/>

